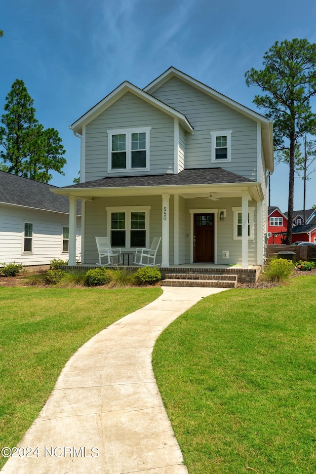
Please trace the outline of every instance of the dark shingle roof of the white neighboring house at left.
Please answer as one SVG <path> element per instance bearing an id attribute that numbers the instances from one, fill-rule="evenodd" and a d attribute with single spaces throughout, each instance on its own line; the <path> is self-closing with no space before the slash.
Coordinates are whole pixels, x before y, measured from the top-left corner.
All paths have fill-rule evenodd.
<path id="1" fill-rule="evenodd" d="M 0 171 L 0 202 L 69 214 L 69 199 L 49 191 L 57 186 Z M 80 214 L 79 209 L 77 213 Z"/>

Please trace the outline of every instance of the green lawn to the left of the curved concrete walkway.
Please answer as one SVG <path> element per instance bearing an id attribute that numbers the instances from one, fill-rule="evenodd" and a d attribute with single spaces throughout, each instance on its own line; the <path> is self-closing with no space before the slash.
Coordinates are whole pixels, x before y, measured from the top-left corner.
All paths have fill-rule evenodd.
<path id="1" fill-rule="evenodd" d="M 158 287 L 0 287 L 0 448 L 17 445 L 85 341 L 160 294 Z"/>

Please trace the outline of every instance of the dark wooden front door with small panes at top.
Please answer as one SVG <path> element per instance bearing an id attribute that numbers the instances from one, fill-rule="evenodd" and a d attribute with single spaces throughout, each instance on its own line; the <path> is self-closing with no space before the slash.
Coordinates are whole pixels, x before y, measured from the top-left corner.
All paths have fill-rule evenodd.
<path id="1" fill-rule="evenodd" d="M 214 263 L 214 214 L 194 214 L 194 261 Z"/>

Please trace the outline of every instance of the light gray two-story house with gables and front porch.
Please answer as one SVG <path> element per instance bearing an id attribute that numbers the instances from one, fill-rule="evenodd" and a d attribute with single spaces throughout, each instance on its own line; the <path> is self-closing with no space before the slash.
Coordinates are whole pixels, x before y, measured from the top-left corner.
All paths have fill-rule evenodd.
<path id="1" fill-rule="evenodd" d="M 263 265 L 272 121 L 171 67 L 143 90 L 125 81 L 70 127 L 81 138 L 70 198 L 82 263 L 96 236 L 133 252 L 162 237 L 156 262 Z"/>

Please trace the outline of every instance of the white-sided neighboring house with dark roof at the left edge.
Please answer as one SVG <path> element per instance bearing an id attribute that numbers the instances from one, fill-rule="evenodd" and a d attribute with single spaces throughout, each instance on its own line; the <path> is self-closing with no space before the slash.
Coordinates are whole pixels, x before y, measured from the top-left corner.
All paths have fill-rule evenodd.
<path id="1" fill-rule="evenodd" d="M 69 258 L 69 200 L 49 184 L 0 171 L 0 262 L 44 265 Z M 56 189 L 56 187 L 53 187 Z M 57 188 L 58 189 L 58 188 Z M 80 209 L 76 258 L 80 258 Z"/>

